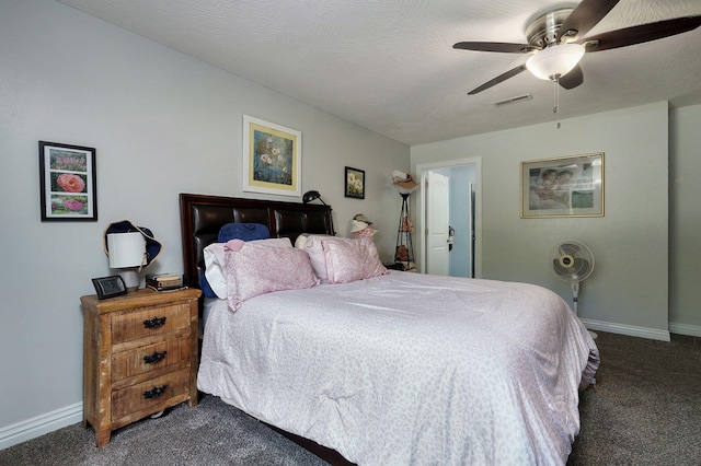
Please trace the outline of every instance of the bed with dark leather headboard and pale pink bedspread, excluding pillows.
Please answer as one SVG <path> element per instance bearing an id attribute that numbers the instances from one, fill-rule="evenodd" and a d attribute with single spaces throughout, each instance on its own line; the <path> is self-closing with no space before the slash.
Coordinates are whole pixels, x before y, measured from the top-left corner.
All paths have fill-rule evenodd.
<path id="1" fill-rule="evenodd" d="M 326 206 L 180 200 L 191 287 L 227 223 L 265 224 L 291 244 L 332 231 Z M 326 253 L 334 242 L 324 240 Z M 599 354 L 560 296 L 527 283 L 388 270 L 332 281 L 209 300 L 198 388 L 330 463 L 566 463 L 579 391 L 594 382 Z"/>

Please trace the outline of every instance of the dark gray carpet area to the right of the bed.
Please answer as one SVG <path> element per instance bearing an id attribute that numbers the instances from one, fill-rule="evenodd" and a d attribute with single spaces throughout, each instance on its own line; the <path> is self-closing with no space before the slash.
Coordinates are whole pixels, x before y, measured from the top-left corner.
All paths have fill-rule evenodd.
<path id="1" fill-rule="evenodd" d="M 599 333 L 567 465 L 701 465 L 701 338 Z"/>

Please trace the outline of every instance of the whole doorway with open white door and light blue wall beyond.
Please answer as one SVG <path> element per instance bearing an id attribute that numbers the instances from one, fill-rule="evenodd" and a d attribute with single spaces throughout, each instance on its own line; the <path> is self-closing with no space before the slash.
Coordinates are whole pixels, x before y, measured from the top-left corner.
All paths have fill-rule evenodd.
<path id="1" fill-rule="evenodd" d="M 416 171 L 422 185 L 421 271 L 481 277 L 481 159 L 418 164 Z"/>

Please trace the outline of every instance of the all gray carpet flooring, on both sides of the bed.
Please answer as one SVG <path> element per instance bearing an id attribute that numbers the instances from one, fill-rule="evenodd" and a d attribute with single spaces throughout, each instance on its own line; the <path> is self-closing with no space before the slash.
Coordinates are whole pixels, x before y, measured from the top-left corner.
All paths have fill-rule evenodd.
<path id="1" fill-rule="evenodd" d="M 582 395 L 576 465 L 701 464 L 701 338 L 600 333 L 597 386 Z M 0 465 L 323 465 L 266 426 L 205 396 L 113 432 L 96 448 L 80 423 L 0 451 Z"/>

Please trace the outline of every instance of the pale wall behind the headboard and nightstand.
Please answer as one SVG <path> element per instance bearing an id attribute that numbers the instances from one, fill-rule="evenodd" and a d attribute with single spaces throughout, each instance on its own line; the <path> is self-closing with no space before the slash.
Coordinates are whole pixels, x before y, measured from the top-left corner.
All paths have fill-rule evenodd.
<path id="1" fill-rule="evenodd" d="M 79 416 L 79 299 L 111 272 L 107 224 L 150 228 L 163 252 L 149 270 L 182 273 L 179 193 L 273 198 L 241 190 L 243 115 L 300 130 L 302 193 L 322 194 L 344 236 L 366 213 L 392 258 L 388 177 L 409 147 L 53 0 L 0 2 L 0 447 L 35 416 Z M 41 222 L 39 140 L 96 148 L 97 222 Z M 366 171 L 365 200 L 344 198 L 345 165 Z"/>

